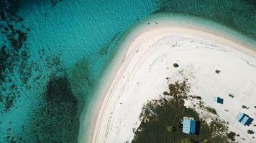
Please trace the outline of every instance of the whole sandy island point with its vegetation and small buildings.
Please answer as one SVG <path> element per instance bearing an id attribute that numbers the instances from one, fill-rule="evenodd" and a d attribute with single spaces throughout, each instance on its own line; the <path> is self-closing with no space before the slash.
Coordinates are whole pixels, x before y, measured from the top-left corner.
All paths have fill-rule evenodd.
<path id="1" fill-rule="evenodd" d="M 125 36 L 97 93 L 88 142 L 136 142 L 153 123 L 158 134 L 180 134 L 175 142 L 256 142 L 256 51 L 222 26 L 180 21 L 147 19 Z M 197 133 L 182 129 L 190 120 Z"/>

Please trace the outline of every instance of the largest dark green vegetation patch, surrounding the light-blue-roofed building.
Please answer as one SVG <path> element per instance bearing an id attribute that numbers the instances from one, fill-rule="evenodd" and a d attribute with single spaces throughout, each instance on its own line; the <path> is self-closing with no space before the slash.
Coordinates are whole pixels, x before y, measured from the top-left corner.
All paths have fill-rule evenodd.
<path id="1" fill-rule="evenodd" d="M 183 82 L 169 84 L 169 91 L 159 100 L 152 100 L 142 109 L 141 124 L 134 130 L 132 143 L 162 143 L 162 142 L 232 142 L 235 134 L 228 134 L 227 123 L 221 119 L 212 119 L 210 124 L 200 119 L 198 112 L 184 106 L 184 99 L 201 98 L 188 96 L 187 79 Z M 203 102 L 201 102 L 203 104 Z M 205 106 L 204 106 L 205 107 Z M 207 107 L 206 107 L 207 108 Z M 205 109 L 205 108 L 203 108 Z M 216 113 L 215 109 L 208 107 Z M 183 117 L 193 117 L 197 121 L 196 134 L 182 132 Z"/>

